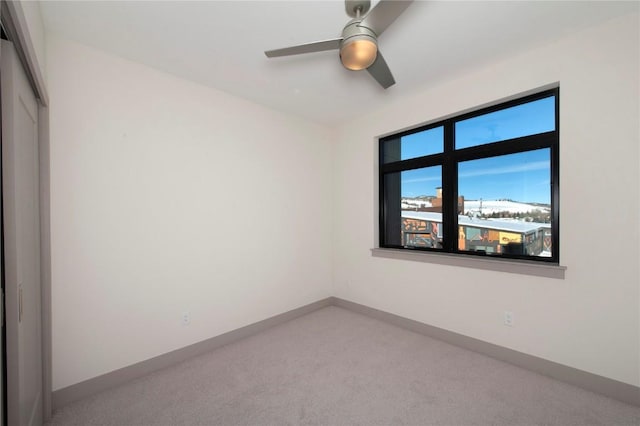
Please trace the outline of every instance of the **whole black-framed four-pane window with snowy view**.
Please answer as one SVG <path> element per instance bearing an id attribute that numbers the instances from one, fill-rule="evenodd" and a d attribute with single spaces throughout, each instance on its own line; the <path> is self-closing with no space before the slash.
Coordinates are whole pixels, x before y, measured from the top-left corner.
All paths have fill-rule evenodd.
<path id="1" fill-rule="evenodd" d="M 559 89 L 381 138 L 380 247 L 558 263 Z"/>

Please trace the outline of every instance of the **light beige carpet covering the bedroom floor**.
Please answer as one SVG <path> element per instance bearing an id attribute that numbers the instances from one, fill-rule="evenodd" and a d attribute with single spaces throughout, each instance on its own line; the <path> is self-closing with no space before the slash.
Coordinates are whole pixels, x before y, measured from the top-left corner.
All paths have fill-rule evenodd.
<path id="1" fill-rule="evenodd" d="M 640 407 L 328 307 L 50 425 L 640 425 Z"/>

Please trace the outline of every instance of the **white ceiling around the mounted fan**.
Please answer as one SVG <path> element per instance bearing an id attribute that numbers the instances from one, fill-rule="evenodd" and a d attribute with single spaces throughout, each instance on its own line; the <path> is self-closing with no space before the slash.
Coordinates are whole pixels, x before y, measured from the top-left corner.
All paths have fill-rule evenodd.
<path id="1" fill-rule="evenodd" d="M 344 69 L 337 51 L 265 57 L 264 50 L 339 37 L 349 20 L 342 1 L 44 1 L 41 8 L 49 31 L 335 125 L 471 68 L 637 11 L 638 3 L 416 1 L 379 40 L 397 82 L 387 90 L 364 71 Z"/>

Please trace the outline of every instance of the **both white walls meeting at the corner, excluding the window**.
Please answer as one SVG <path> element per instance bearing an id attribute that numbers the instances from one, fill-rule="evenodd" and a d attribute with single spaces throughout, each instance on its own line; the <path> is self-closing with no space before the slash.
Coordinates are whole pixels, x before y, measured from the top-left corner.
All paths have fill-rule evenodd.
<path id="1" fill-rule="evenodd" d="M 337 135 L 51 37 L 54 390 L 330 294 L 639 385 L 638 31 L 617 19 Z M 377 135 L 556 81 L 565 280 L 371 257 Z"/>

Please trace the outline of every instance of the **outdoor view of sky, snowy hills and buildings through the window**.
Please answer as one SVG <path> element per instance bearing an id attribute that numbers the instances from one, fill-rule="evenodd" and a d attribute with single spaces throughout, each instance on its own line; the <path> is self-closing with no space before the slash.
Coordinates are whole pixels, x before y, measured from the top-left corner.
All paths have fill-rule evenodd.
<path id="1" fill-rule="evenodd" d="M 551 96 L 459 121 L 455 143 L 462 149 L 554 129 Z M 403 137 L 402 159 L 442 152 L 442 134 L 436 128 Z M 400 187 L 404 245 L 441 247 L 442 168 L 403 171 Z M 551 256 L 549 148 L 460 162 L 458 196 L 460 250 Z"/>

